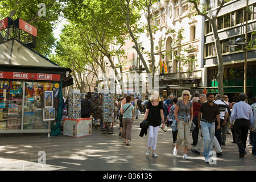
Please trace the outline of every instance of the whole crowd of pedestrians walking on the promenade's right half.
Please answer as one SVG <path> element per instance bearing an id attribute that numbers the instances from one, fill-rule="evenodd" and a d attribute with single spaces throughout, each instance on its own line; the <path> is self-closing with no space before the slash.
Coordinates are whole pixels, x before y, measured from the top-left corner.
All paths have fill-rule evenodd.
<path id="1" fill-rule="evenodd" d="M 223 98 L 223 100 L 222 100 Z M 170 95 L 164 100 L 159 93 L 154 91 L 151 96 L 142 102 L 141 96 L 132 98 L 123 94 L 123 98 L 117 102 L 117 118 L 120 121 L 119 136 L 125 138 L 126 146 L 131 140 L 131 128 L 134 118 L 144 113 L 144 120 L 140 124 L 140 136 L 148 133 L 148 148 L 146 155 L 157 158 L 156 144 L 158 131 L 163 131 L 166 126 L 172 128 L 173 154 L 178 150 L 183 151 L 183 158 L 188 160 L 187 151 L 200 154 L 203 146 L 205 162 L 213 162 L 212 148 L 216 149 L 216 155 L 222 156 L 221 146 L 225 146 L 226 134 L 232 131 L 233 142 L 238 147 L 240 158 L 245 156 L 248 131 L 249 144 L 253 146 L 251 154 L 256 155 L 256 101 L 252 99 L 252 105 L 246 103 L 247 96 L 239 94 L 239 102 L 229 103 L 228 96 L 213 93 L 195 93 L 193 98 L 188 90 L 184 90 L 181 97 Z M 192 143 L 189 136 L 192 134 Z M 195 148 L 192 149 L 192 146 Z M 152 150 L 152 151 L 151 151 Z"/>

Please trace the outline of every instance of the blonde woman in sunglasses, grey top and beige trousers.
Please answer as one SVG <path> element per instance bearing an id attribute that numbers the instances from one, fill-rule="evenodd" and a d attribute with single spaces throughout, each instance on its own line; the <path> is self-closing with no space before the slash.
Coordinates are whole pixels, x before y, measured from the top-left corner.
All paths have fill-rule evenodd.
<path id="1" fill-rule="evenodd" d="M 187 148 L 189 147 L 188 137 L 193 119 L 193 105 L 192 102 L 189 102 L 190 98 L 190 92 L 184 90 L 182 92 L 181 101 L 177 101 L 174 111 L 178 131 L 178 138 L 176 140 L 176 146 L 174 147 L 174 155 L 177 155 L 177 148 L 184 140 L 184 159 L 189 159 L 187 155 Z"/>

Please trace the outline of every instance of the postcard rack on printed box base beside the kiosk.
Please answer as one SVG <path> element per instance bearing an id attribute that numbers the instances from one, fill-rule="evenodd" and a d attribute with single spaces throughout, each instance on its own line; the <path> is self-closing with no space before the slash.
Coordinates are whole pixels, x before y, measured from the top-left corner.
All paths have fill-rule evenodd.
<path id="1" fill-rule="evenodd" d="M 81 100 L 85 93 L 72 90 L 69 95 L 68 118 L 64 118 L 63 135 L 69 137 L 84 137 L 92 134 L 92 118 L 81 118 Z"/>

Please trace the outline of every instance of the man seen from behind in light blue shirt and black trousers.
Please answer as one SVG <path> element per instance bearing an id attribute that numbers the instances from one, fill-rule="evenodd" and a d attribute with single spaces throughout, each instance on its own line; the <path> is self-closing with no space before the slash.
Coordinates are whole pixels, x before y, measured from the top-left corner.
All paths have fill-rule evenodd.
<path id="1" fill-rule="evenodd" d="M 246 140 L 248 130 L 253 129 L 253 110 L 251 106 L 245 102 L 246 94 L 240 93 L 239 94 L 240 102 L 234 104 L 230 121 L 233 122 L 236 119 L 234 126 L 234 133 L 236 134 L 236 142 L 238 146 L 239 156 L 243 158 L 247 153 L 245 151 L 246 147 Z M 233 127 L 233 124 L 230 125 Z"/>

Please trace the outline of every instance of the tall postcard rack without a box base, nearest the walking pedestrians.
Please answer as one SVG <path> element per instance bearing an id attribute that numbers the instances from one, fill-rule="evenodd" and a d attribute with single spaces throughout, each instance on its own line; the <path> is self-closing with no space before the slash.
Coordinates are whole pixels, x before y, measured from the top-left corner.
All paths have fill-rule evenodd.
<path id="1" fill-rule="evenodd" d="M 114 96 L 111 90 L 104 90 L 102 95 L 101 134 L 114 134 Z"/>

